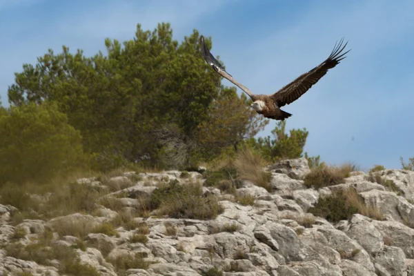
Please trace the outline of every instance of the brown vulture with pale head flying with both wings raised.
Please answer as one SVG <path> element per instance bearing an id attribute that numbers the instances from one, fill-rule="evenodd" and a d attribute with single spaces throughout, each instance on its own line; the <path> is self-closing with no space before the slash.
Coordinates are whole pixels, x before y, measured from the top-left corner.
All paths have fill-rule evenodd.
<path id="1" fill-rule="evenodd" d="M 273 95 L 262 95 L 262 94 L 253 94 L 246 86 L 242 85 L 242 83 L 237 82 L 233 77 L 224 70 L 224 67 L 211 55 L 210 51 L 206 46 L 206 42 L 204 41 L 204 37 L 201 35 L 201 52 L 203 54 L 204 59 L 208 63 L 208 65 L 213 68 L 219 75 L 228 79 L 240 89 L 242 89 L 246 94 L 252 99 L 253 103 L 251 107 L 258 113 L 263 115 L 268 119 L 275 119 L 275 120 L 282 120 L 292 116 L 292 114 L 281 110 L 282 106 L 286 104 L 292 103 L 296 101 L 304 95 L 306 91 L 309 90 L 319 79 L 324 77 L 326 72 L 329 69 L 334 68 L 337 66 L 339 61 L 344 59 L 344 55 L 350 50 L 342 53 L 346 44 L 342 47 L 342 43 L 344 39 L 342 38 L 339 43 L 335 43 L 335 46 L 331 52 L 331 55 L 327 59 L 325 59 L 322 63 L 318 66 L 313 68 L 312 70 L 300 75 L 294 81 L 288 83 L 288 85 L 281 88 L 279 91 L 275 92 Z M 342 53 L 342 54 L 341 54 Z"/>

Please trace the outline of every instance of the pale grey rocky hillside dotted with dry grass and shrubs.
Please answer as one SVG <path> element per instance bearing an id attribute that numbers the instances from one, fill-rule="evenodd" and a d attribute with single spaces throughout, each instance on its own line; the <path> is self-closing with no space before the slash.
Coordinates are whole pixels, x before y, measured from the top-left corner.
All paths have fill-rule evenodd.
<path id="1" fill-rule="evenodd" d="M 200 172 L 125 172 L 77 181 L 118 187 L 90 213 L 16 223 L 19 210 L 0 205 L 0 275 L 414 275 L 414 172 L 351 172 L 315 189 L 306 159 L 265 169 L 267 190 L 231 177 L 234 190 L 211 185 Z M 199 197 L 188 188 L 197 183 Z M 358 212 L 313 215 L 340 212 L 339 201 L 317 204 L 350 189 Z"/>

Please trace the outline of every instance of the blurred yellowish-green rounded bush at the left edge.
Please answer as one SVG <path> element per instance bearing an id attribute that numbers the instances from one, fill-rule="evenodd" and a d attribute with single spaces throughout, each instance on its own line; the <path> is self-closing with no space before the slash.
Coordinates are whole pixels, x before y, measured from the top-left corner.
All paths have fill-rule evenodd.
<path id="1" fill-rule="evenodd" d="M 55 103 L 0 112 L 0 140 L 0 184 L 46 181 L 85 161 L 79 131 Z"/>

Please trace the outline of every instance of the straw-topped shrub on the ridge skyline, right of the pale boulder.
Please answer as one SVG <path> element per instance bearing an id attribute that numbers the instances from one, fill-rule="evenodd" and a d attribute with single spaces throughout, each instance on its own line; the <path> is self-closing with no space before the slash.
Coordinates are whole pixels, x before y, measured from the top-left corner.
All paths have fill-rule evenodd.
<path id="1" fill-rule="evenodd" d="M 351 176 L 351 167 L 348 165 L 339 168 L 333 166 L 321 165 L 311 169 L 304 179 L 304 184 L 308 188 L 323 188 L 341 184 L 344 178 Z"/>

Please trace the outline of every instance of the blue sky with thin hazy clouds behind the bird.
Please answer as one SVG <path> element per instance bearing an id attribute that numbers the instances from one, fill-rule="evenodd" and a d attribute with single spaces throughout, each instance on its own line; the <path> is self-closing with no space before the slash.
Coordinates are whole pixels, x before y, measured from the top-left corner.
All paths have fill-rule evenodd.
<path id="1" fill-rule="evenodd" d="M 400 168 L 400 157 L 414 156 L 413 14 L 408 0 L 0 0 L 1 101 L 8 106 L 14 72 L 48 48 L 95 55 L 106 37 L 132 39 L 137 23 L 170 22 L 179 41 L 193 29 L 211 36 L 213 55 L 258 94 L 317 66 L 345 37 L 347 58 L 284 106 L 287 127 L 306 128 L 305 150 L 328 164 Z"/>

